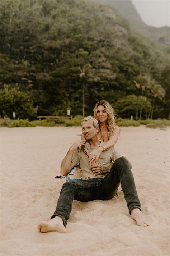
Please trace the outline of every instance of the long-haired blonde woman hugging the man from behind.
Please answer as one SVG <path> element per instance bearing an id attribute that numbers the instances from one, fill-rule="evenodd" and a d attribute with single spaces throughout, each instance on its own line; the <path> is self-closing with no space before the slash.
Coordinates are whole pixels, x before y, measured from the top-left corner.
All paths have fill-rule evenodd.
<path id="1" fill-rule="evenodd" d="M 115 123 L 115 112 L 112 106 L 106 100 L 101 100 L 96 103 L 94 109 L 94 118 L 99 123 L 98 140 L 106 142 L 104 146 L 99 146 L 95 150 L 90 152 L 88 143 L 86 142 L 86 148 L 89 152 L 90 164 L 96 162 L 101 152 L 113 147 L 118 141 L 118 135 L 120 133 L 119 127 Z M 66 177 L 66 182 L 76 182 L 81 180 L 81 172 L 79 165 L 76 165 Z"/>

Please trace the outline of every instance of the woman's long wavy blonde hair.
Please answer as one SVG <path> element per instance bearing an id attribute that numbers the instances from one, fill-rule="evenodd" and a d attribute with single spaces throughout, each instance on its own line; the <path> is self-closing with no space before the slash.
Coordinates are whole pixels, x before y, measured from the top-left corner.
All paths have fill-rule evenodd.
<path id="1" fill-rule="evenodd" d="M 115 132 L 115 128 L 118 127 L 116 122 L 115 122 L 115 118 L 114 116 L 116 115 L 114 112 L 114 109 L 112 108 L 112 106 L 109 104 L 109 102 L 107 102 L 106 100 L 101 100 L 99 102 L 96 103 L 93 111 L 94 111 L 94 118 L 96 118 L 98 120 L 99 123 L 99 129 L 100 129 L 100 121 L 97 117 L 97 108 L 98 106 L 104 106 L 106 112 L 108 113 L 108 119 L 107 119 L 107 129 L 108 129 L 108 138 L 110 139 L 110 137 L 113 135 L 113 133 Z"/>

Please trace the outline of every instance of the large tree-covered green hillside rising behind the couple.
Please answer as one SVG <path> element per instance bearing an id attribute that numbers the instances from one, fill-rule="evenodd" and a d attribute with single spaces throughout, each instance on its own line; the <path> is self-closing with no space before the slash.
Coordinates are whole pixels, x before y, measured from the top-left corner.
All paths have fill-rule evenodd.
<path id="1" fill-rule="evenodd" d="M 93 114 L 108 100 L 122 118 L 169 118 L 169 49 L 90 0 L 1 0 L 0 115 Z M 68 120 L 69 122 L 69 120 Z"/>

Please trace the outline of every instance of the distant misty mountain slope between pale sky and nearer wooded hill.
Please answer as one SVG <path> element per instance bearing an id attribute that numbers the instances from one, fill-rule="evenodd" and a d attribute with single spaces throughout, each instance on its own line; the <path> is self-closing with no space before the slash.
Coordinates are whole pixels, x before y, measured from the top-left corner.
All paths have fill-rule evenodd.
<path id="1" fill-rule="evenodd" d="M 161 44 L 170 44 L 170 27 L 156 28 L 143 22 L 131 0 L 105 0 L 116 8 L 124 18 L 128 19 L 132 28 L 143 36 L 155 40 Z"/>

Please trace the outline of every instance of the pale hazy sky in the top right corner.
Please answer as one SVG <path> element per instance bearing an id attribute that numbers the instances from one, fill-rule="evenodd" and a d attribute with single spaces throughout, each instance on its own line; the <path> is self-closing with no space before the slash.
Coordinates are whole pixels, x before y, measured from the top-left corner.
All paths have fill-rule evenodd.
<path id="1" fill-rule="evenodd" d="M 150 26 L 170 26 L 170 0 L 132 0 L 141 19 Z"/>

